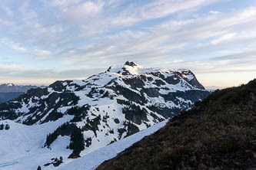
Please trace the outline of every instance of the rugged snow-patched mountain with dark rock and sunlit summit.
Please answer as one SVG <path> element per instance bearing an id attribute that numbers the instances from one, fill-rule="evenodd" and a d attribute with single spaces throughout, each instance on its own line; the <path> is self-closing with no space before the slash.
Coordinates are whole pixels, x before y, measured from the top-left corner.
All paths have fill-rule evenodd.
<path id="1" fill-rule="evenodd" d="M 0 119 L 38 129 L 58 123 L 43 130 L 38 145 L 72 152 L 63 159 L 77 158 L 171 118 L 209 93 L 190 70 L 145 68 L 127 61 L 86 80 L 28 90 L 0 104 Z"/>

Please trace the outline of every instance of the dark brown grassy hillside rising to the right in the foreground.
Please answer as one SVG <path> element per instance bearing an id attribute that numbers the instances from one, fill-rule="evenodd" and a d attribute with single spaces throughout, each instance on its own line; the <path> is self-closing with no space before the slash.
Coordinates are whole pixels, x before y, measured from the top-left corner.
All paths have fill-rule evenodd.
<path id="1" fill-rule="evenodd" d="M 256 80 L 211 93 L 97 169 L 256 169 Z"/>

